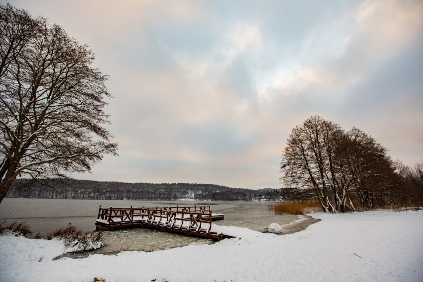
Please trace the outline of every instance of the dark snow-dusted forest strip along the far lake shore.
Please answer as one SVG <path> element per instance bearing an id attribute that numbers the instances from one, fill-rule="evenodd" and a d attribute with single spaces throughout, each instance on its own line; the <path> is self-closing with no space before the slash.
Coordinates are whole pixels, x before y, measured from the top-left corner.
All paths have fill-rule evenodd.
<path id="1" fill-rule="evenodd" d="M 91 200 L 292 200 L 293 189 L 242 189 L 215 184 L 123 183 L 74 179 L 16 179 L 9 198 L 91 199 Z"/>

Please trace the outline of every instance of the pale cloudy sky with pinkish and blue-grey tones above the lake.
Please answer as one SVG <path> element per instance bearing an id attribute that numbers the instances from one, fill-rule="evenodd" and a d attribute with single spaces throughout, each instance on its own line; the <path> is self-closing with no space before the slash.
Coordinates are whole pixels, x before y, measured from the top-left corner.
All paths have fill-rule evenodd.
<path id="1" fill-rule="evenodd" d="M 281 188 L 288 135 L 311 115 L 423 161 L 421 0 L 8 2 L 110 75 L 119 156 L 74 178 Z"/>

